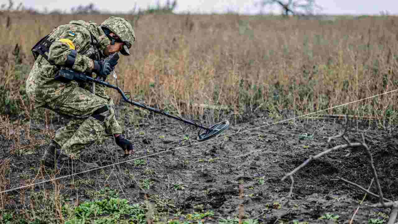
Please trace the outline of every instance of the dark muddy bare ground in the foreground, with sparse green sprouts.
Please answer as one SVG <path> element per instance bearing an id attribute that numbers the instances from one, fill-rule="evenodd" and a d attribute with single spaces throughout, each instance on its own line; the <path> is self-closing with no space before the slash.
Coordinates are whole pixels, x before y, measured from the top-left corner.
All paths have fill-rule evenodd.
<path id="1" fill-rule="evenodd" d="M 135 111 L 133 115 L 137 118 L 141 111 Z M 337 214 L 339 223 L 348 223 L 364 193 L 336 177 L 343 177 L 364 188 L 372 179 L 367 157 L 361 148 L 332 151 L 294 175 L 293 194 L 288 201 L 291 182 L 289 178 L 286 181 L 281 181 L 281 178 L 310 155 L 345 143 L 342 138 L 327 142 L 329 136 L 343 131 L 344 120 L 297 119 L 265 126 L 275 121 L 266 114 L 238 119 L 236 123 L 232 115 L 224 114 L 220 120 L 228 119 L 231 124 L 222 138 L 197 143 L 196 131 L 181 132 L 188 126 L 171 118 L 149 113 L 138 120 L 131 120 L 131 116 L 121 110 L 118 116 L 125 122 L 125 136 L 135 143 L 135 154 L 129 159 L 158 154 L 59 179 L 61 195 L 69 198 L 71 203 L 90 200 L 90 191 L 109 187 L 118 190 L 120 197 L 131 203 L 143 202 L 146 196 L 159 211 L 170 214 L 170 217 L 177 212 L 187 214 L 201 209 L 213 210 L 214 219 L 206 222 L 218 222 L 217 218 L 236 217 L 239 204 L 243 203 L 245 217 L 263 223 L 293 223 L 293 220 L 331 222 L 318 220 L 325 213 Z M 204 125 L 209 125 L 208 120 L 213 122 L 214 119 L 205 119 Z M 55 117 L 51 127 L 57 130 L 65 122 Z M 398 200 L 398 132 L 396 127 L 377 129 L 373 124 L 355 120 L 350 123 L 347 137 L 359 141 L 361 133 L 365 134 L 384 196 Z M 259 126 L 265 127 L 245 131 Z M 41 128 L 43 122 L 33 122 L 31 133 L 39 133 Z M 229 136 L 223 137 L 224 134 Z M 46 139 L 42 134 L 36 134 L 35 138 Z M 25 153 L 27 155 L 10 155 L 7 149 L 12 147 L 13 141 L 5 140 L 5 136 L 1 136 L 1 141 L 4 156 L 0 159 L 11 158 L 10 185 L 7 188 L 29 183 L 28 180 L 34 179 L 38 173 L 39 158 L 46 145 L 33 147 L 33 151 Z M 21 142 L 29 145 L 23 132 Z M 187 146 L 189 143 L 194 145 Z M 91 153 L 82 154 L 82 160 L 97 162 L 101 166 L 127 160 L 121 157 L 111 138 L 90 149 Z M 39 175 L 35 181 L 45 179 L 49 179 L 46 174 Z M 240 183 L 243 185 L 243 199 L 239 198 Z M 35 185 L 33 189 L 26 189 L 25 195 L 29 195 L 29 191 L 43 189 L 53 190 L 53 185 L 51 182 Z M 374 185 L 371 191 L 376 192 Z M 23 208 L 21 190 L 7 194 L 7 209 Z M 26 197 L 25 204 L 29 204 Z M 382 218 L 383 213 L 390 213 L 389 209 L 367 206 L 374 202 L 377 199 L 367 197 L 354 223 L 368 223 L 370 218 Z"/>

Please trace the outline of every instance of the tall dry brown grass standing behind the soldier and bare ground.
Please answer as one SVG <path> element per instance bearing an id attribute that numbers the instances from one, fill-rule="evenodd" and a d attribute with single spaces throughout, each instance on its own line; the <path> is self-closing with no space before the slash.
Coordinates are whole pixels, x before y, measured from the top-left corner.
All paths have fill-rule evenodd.
<path id="1" fill-rule="evenodd" d="M 18 43 L 25 65 L 33 64 L 31 47 L 54 27 L 80 19 L 100 24 L 108 17 L 14 13 L 7 28 L 7 16 L 1 15 L 3 48 L 12 51 Z M 123 17 L 134 20 L 133 15 Z M 392 16 L 334 22 L 238 15 L 141 16 L 135 20 L 132 56 L 122 57 L 117 67 L 119 84 L 136 100 L 180 114 L 201 115 L 204 108 L 198 105 L 203 104 L 228 106 L 235 116 L 255 110 L 306 114 L 397 89 L 397 23 Z M 0 81 L 6 88 L 18 83 L 12 75 L 12 56 L 9 52 L 1 68 L 6 75 Z M 22 74 L 22 86 L 27 75 Z M 12 92 L 16 98 L 15 89 Z M 119 98 L 114 90 L 109 93 Z M 328 113 L 392 122 L 397 102 L 396 94 L 390 94 Z"/>

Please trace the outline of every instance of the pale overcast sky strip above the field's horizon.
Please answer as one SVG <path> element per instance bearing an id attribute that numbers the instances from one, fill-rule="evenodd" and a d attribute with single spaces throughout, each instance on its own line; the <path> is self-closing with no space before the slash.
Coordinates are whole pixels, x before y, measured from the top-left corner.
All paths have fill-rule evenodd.
<path id="1" fill-rule="evenodd" d="M 159 0 L 164 5 L 166 0 Z M 158 0 L 15 0 L 14 4 L 22 3 L 27 8 L 35 8 L 43 11 L 45 7 L 49 11 L 54 9 L 67 10 L 73 6 L 86 6 L 94 3 L 99 10 L 109 10 L 111 12 L 129 12 L 134 4 L 141 9 L 147 9 L 148 6 L 156 6 Z M 115 2 L 115 3 L 111 3 Z M 170 0 L 172 2 L 172 0 Z M 240 14 L 257 14 L 259 8 L 254 6 L 259 0 L 177 0 L 176 13 L 223 13 L 227 11 L 238 12 Z M 380 15 L 380 12 L 388 12 L 390 15 L 398 15 L 398 0 L 317 0 L 318 5 L 322 6 L 321 14 L 351 14 L 351 15 Z M 0 0 L 0 4 L 7 4 L 8 0 Z M 269 9 L 269 8 L 268 8 Z M 279 14 L 278 7 L 273 7 L 273 12 Z M 266 12 L 266 10 L 264 10 Z"/>

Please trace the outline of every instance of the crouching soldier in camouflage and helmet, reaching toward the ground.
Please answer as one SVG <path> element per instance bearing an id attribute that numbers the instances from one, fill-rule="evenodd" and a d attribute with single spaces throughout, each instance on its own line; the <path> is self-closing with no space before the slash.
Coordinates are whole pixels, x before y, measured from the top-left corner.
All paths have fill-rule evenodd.
<path id="1" fill-rule="evenodd" d="M 121 135 L 115 106 L 105 94 L 105 86 L 65 81 L 59 78 L 59 72 L 66 68 L 89 76 L 96 73 L 105 80 L 119 57 L 108 62 L 104 59 L 118 52 L 130 55 L 134 41 L 131 24 L 124 18 L 111 16 L 100 26 L 83 20 L 71 21 L 53 29 L 33 47 L 35 64 L 26 80 L 29 99 L 35 107 L 53 110 L 70 119 L 57 130 L 45 150 L 41 160 L 45 167 L 71 167 L 74 161 L 80 161 L 80 152 L 105 133 L 113 134 L 125 155 L 132 153 L 133 144 Z M 98 165 L 76 163 L 73 167 L 87 170 Z"/>

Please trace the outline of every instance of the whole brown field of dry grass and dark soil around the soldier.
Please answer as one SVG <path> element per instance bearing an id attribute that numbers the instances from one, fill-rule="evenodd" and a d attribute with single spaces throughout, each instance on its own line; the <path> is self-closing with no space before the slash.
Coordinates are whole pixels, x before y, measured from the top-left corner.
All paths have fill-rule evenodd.
<path id="1" fill-rule="evenodd" d="M 228 119 L 227 135 L 324 111 L 188 146 L 195 142 L 195 132 L 126 106 L 109 90 L 119 102 L 124 134 L 135 142 L 133 157 L 185 148 L 0 193 L 0 223 L 77 224 L 95 219 L 103 224 L 237 224 L 238 218 L 244 224 L 348 223 L 365 197 L 337 178 L 369 186 L 371 169 L 360 148 L 335 150 L 312 162 L 295 174 L 292 193 L 290 181 L 281 181 L 310 155 L 345 143 L 326 142 L 343 130 L 334 117 L 341 114 L 357 116 L 346 136 L 360 141 L 365 133 L 381 190 L 397 200 L 397 92 L 325 110 L 398 88 L 397 17 L 324 21 L 233 14 L 120 16 L 132 22 L 137 41 L 132 55 L 119 60 L 116 73 L 119 86 L 135 101 L 203 119 L 205 125 Z M 39 168 L 47 143 L 66 121 L 49 110 L 33 109 L 27 100 L 25 79 L 34 63 L 31 47 L 70 20 L 100 24 L 107 17 L 0 11 L 0 192 L 62 176 Z M 114 79 L 110 83 L 116 84 Z M 85 161 L 103 166 L 122 159 L 110 139 L 90 149 L 93 153 L 82 155 Z M 375 186 L 369 189 L 377 192 Z M 133 209 L 121 198 L 139 205 Z M 119 213 L 98 204 L 83 210 L 86 202 L 98 199 L 112 202 Z M 367 196 L 353 223 L 386 222 L 391 209 L 368 206 L 374 203 L 377 198 Z M 101 209 L 106 212 L 97 214 Z M 84 214 L 90 220 L 82 221 Z M 146 218 L 139 218 L 143 214 Z"/>

